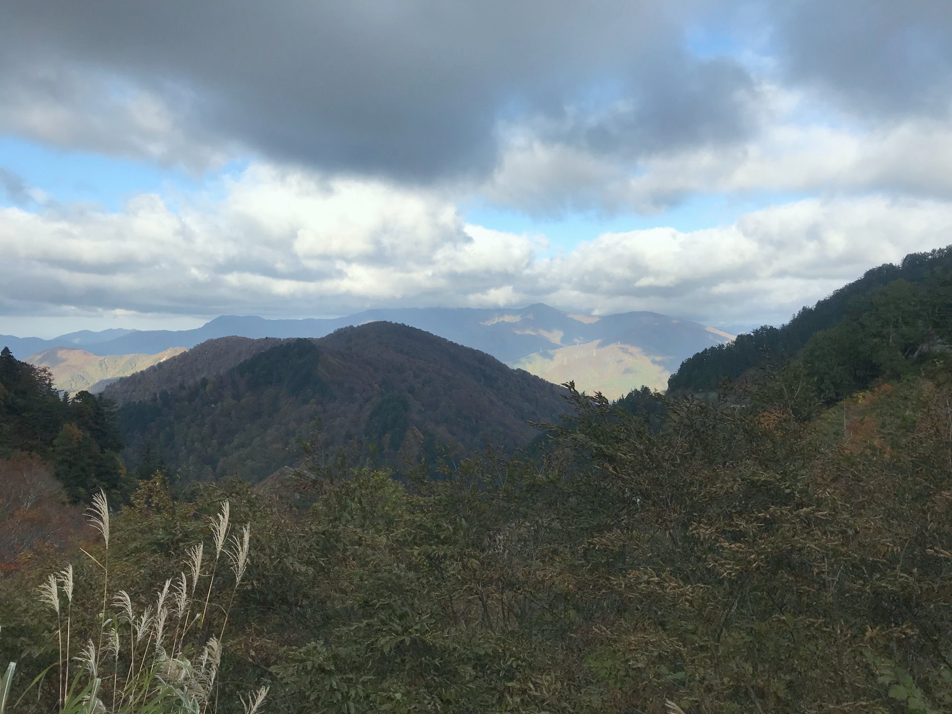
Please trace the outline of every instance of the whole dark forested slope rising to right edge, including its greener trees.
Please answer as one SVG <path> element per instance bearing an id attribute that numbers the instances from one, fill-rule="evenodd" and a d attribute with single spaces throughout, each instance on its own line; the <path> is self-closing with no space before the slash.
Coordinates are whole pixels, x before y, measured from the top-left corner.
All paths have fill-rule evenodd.
<path id="1" fill-rule="evenodd" d="M 942 291 L 950 279 L 952 248 L 910 253 L 900 265 L 885 264 L 867 270 L 862 278 L 836 290 L 814 307 L 803 307 L 783 327 L 759 327 L 738 335 L 730 344 L 705 348 L 684 360 L 677 372 L 671 375 L 668 388 L 674 392 L 716 391 L 724 379 L 736 380 L 747 370 L 764 365 L 768 360 L 792 357 L 807 345 L 811 337 L 846 321 L 854 327 L 838 327 L 835 338 L 818 336 L 815 347 L 809 350 L 816 369 L 822 371 L 825 368 L 822 363 L 826 363 L 830 369 L 838 370 L 838 374 L 843 369 L 853 372 L 849 377 L 832 378 L 843 384 L 826 387 L 828 391 L 832 390 L 831 393 L 843 396 L 872 379 L 881 367 L 885 368 L 884 363 L 881 367 L 874 367 L 872 362 L 892 361 L 895 367 L 898 364 L 895 363 L 897 349 L 904 360 L 913 354 L 921 356 L 922 350 L 949 344 L 952 325 L 947 323 L 942 310 L 942 300 L 947 299 Z M 897 281 L 903 281 L 905 285 Z M 864 317 L 869 310 L 873 310 L 875 315 Z M 861 355 L 863 348 L 855 344 L 849 347 L 853 353 L 848 357 L 844 354 L 839 358 L 820 354 L 825 349 L 819 347 L 821 342 L 833 350 L 845 347 L 844 341 L 848 341 L 846 333 L 850 329 L 855 333 L 861 323 L 870 328 L 863 339 L 871 340 L 869 345 L 876 343 L 877 346 L 880 346 L 881 339 L 885 339 L 886 351 L 893 356 Z M 874 327 L 873 323 L 879 323 L 879 327 Z M 838 347 L 830 342 L 834 339 L 839 341 Z M 844 364 L 851 366 L 843 367 Z"/>

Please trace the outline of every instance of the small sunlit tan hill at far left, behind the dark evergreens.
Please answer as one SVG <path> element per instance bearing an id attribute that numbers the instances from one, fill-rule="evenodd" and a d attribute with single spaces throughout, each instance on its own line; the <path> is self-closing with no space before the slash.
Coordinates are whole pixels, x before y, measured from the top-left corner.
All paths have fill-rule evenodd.
<path id="1" fill-rule="evenodd" d="M 74 394 L 83 389 L 100 392 L 120 377 L 129 376 L 133 372 L 156 365 L 185 351 L 185 347 L 169 347 L 158 354 L 120 354 L 101 357 L 85 349 L 50 347 L 30 355 L 26 361 L 30 365 L 50 369 L 53 387 Z"/>

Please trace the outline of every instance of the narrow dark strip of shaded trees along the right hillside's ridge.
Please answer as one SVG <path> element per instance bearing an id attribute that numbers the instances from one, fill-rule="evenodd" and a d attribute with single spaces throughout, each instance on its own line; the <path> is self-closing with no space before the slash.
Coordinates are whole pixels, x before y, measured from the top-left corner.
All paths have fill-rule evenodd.
<path id="1" fill-rule="evenodd" d="M 821 330 L 836 326 L 868 306 L 877 291 L 895 281 L 935 282 L 952 274 L 952 247 L 910 253 L 898 266 L 884 264 L 833 292 L 813 307 L 803 307 L 783 327 L 759 327 L 729 344 L 706 347 L 687 358 L 668 380 L 676 393 L 716 391 L 724 379 L 736 380 L 767 360 L 796 355 Z"/>

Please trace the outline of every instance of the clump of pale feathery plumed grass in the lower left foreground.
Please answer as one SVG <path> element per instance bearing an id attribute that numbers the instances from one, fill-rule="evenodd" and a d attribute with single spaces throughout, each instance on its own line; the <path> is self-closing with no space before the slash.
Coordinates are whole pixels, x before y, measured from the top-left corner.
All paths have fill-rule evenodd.
<path id="1" fill-rule="evenodd" d="M 106 554 L 102 562 L 87 555 L 102 569 L 103 582 L 108 588 L 110 534 L 105 494 L 97 494 L 90 511 L 89 520 L 102 533 Z M 48 705 L 49 710 L 58 714 L 207 714 L 217 710 L 222 638 L 248 568 L 250 544 L 248 526 L 228 538 L 229 519 L 228 502 L 225 502 L 211 526 L 214 558 L 208 559 L 210 563 L 206 561 L 202 544 L 188 548 L 181 572 L 165 581 L 154 591 L 154 599 L 144 605 L 137 605 L 127 590 L 119 590 L 109 597 L 109 590 L 105 589 L 101 611 L 80 617 L 83 610 L 74 612 L 72 607 L 75 585 L 72 566 L 47 578 L 39 593 L 41 601 L 56 614 L 58 644 L 56 703 Z M 214 588 L 223 552 L 235 576 L 230 592 L 223 587 Z M 199 595 L 202 578 L 208 578 L 208 589 Z M 227 606 L 220 605 L 226 598 Z M 201 613 L 198 613 L 199 607 Z M 93 609 L 99 609 L 98 605 L 93 605 Z M 207 621 L 218 612 L 222 617 L 220 629 L 217 623 L 212 625 Z M 202 626 L 189 634 L 195 623 Z M 203 633 L 212 626 L 217 636 L 206 640 Z M 84 645 L 73 657 L 71 642 L 77 638 L 82 638 L 78 642 Z M 70 670 L 72 661 L 77 664 Z M 15 664 L 10 664 L 7 674 L 0 679 L 0 714 L 4 714 L 7 706 L 14 670 Z M 34 684 L 42 676 L 34 680 Z M 256 714 L 267 693 L 268 689 L 262 687 L 247 699 L 241 697 L 246 714 Z M 104 703 L 109 703 L 109 708 Z"/>

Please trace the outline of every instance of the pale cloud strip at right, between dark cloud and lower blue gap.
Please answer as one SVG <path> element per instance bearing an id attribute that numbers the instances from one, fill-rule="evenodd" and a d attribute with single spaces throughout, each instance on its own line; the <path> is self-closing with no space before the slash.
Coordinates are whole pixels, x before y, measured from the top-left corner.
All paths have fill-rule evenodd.
<path id="1" fill-rule="evenodd" d="M 952 199 L 952 123 L 929 116 L 887 125 L 804 122 L 803 92 L 762 85 L 761 129 L 732 143 L 644 154 L 599 153 L 513 133 L 482 190 L 492 201 L 542 215 L 565 211 L 658 213 L 695 194 L 827 196 L 887 193 Z"/>

